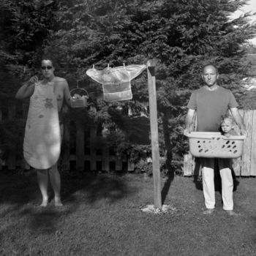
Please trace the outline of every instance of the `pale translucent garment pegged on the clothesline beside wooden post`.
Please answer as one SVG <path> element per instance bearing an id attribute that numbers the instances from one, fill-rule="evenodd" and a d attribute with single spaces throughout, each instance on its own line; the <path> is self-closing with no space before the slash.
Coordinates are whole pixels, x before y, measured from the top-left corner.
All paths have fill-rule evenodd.
<path id="1" fill-rule="evenodd" d="M 146 65 L 106 67 L 103 70 L 88 69 L 86 75 L 102 84 L 103 99 L 106 102 L 132 99 L 131 80 L 140 75 Z"/>

